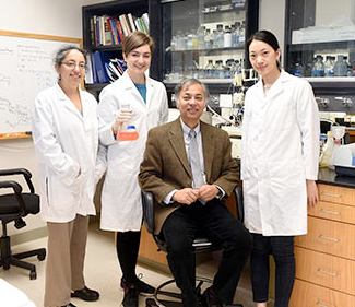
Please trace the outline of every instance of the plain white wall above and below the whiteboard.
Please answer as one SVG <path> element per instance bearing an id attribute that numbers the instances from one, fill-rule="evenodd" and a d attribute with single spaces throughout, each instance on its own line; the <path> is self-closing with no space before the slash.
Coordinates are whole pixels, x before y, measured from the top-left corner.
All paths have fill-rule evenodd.
<path id="1" fill-rule="evenodd" d="M 106 0 L 12 0 L 0 1 L 0 29 L 82 38 L 82 5 Z M 1 132 L 1 131 L 0 131 Z M 37 156 L 32 139 L 1 140 L 0 169 L 25 167 L 37 187 Z M 28 232 L 44 227 L 39 215 L 26 217 Z M 19 233 L 12 225 L 9 233 Z"/>

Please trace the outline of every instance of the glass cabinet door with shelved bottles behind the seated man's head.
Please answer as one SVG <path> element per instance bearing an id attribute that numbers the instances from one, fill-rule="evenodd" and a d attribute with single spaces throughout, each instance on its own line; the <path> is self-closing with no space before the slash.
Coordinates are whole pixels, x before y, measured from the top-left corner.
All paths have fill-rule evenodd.
<path id="1" fill-rule="evenodd" d="M 258 14 L 259 1 L 250 2 L 252 11 L 247 0 L 163 0 L 164 82 L 232 83 L 244 68 L 247 13 Z"/>

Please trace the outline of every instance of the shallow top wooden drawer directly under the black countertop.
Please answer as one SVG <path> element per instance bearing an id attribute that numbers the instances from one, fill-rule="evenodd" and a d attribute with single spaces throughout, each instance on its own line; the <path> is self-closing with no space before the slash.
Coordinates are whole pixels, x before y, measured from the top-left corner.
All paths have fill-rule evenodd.
<path id="1" fill-rule="evenodd" d="M 318 184 L 319 198 L 322 201 L 345 203 L 355 206 L 355 189 Z"/>

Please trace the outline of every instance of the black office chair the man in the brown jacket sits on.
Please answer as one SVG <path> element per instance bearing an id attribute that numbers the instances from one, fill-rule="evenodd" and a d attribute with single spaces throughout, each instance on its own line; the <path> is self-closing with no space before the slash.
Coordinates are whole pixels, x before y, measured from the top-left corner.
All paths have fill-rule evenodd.
<path id="1" fill-rule="evenodd" d="M 235 196 L 235 204 L 236 204 L 236 213 L 239 219 L 239 221 L 244 222 L 244 204 L 242 204 L 242 197 L 240 188 L 237 187 L 234 190 Z M 164 240 L 164 237 L 154 234 L 154 198 L 151 192 L 142 191 L 142 204 L 143 204 L 143 220 L 146 231 L 152 234 L 154 241 L 156 243 L 158 247 L 158 251 L 165 251 L 167 252 L 166 241 Z M 221 246 L 215 246 L 212 244 L 211 240 L 209 240 L 206 237 L 197 237 L 192 243 L 192 248 L 194 253 L 202 253 L 202 252 L 212 252 L 215 250 L 220 250 Z M 196 281 L 198 282 L 196 287 L 196 294 L 198 296 L 198 300 L 201 302 L 201 288 L 203 283 L 212 284 L 211 279 L 196 276 Z M 154 293 L 154 298 L 147 298 L 145 300 L 146 307 L 152 306 L 166 306 L 166 307 L 180 307 L 182 306 L 182 298 L 181 294 L 175 293 L 171 291 L 165 291 L 168 285 L 174 284 L 175 280 L 168 280 L 164 283 L 162 283 Z M 234 292 L 236 288 L 236 283 L 234 281 L 230 282 L 230 291 L 228 294 L 225 295 L 224 298 L 226 298 L 229 302 L 233 302 Z M 174 300 L 167 300 L 164 299 L 164 297 L 171 297 Z M 242 307 L 241 304 L 227 304 L 226 306 L 237 306 Z"/>

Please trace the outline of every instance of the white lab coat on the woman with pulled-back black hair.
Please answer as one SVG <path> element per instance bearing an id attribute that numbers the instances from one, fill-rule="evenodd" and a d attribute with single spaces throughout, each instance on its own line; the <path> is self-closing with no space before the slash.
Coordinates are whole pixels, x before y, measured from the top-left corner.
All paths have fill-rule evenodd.
<path id="1" fill-rule="evenodd" d="M 319 114 L 309 83 L 285 71 L 267 97 L 260 80 L 245 99 L 241 179 L 251 233 L 307 233 L 306 179 L 316 180 Z"/>

